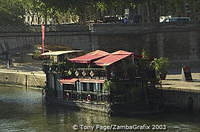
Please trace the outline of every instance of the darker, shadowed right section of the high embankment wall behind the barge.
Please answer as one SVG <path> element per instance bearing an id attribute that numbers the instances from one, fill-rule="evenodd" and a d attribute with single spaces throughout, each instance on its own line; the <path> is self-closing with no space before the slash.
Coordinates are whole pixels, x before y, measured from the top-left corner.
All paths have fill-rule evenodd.
<path id="1" fill-rule="evenodd" d="M 140 54 L 142 49 L 152 57 L 168 57 L 171 67 L 182 64 L 200 66 L 200 30 L 198 25 L 94 25 L 94 36 L 100 49 L 124 49 Z M 180 69 L 178 69 L 180 71 Z"/>

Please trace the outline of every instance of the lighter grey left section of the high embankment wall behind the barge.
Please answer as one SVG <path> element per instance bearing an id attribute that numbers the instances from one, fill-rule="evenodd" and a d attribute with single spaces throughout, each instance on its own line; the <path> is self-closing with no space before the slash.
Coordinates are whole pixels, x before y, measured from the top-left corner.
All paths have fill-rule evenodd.
<path id="1" fill-rule="evenodd" d="M 88 34 L 88 32 L 47 32 L 45 44 L 90 50 L 91 42 Z M 41 33 L 0 33 L 0 53 L 7 49 L 11 54 L 13 50 L 22 53 L 24 49 L 33 49 L 36 44 L 41 44 Z"/>

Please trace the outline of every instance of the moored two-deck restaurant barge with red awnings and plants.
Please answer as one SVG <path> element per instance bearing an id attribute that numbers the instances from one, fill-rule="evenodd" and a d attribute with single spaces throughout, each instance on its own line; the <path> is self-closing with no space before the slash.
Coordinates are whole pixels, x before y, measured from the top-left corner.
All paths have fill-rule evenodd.
<path id="1" fill-rule="evenodd" d="M 47 102 L 105 113 L 148 113 L 162 105 L 155 70 L 133 52 L 96 50 L 83 55 L 72 50 L 42 55 L 50 56 L 43 64 Z"/>

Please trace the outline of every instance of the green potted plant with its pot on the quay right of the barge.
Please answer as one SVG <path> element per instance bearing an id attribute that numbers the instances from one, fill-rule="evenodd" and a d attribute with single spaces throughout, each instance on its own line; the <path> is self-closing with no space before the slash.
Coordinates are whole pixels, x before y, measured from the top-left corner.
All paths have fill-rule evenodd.
<path id="1" fill-rule="evenodd" d="M 151 64 L 155 68 L 155 70 L 159 73 L 160 79 L 165 80 L 167 75 L 167 69 L 169 67 L 168 58 L 165 57 L 155 58 Z"/>

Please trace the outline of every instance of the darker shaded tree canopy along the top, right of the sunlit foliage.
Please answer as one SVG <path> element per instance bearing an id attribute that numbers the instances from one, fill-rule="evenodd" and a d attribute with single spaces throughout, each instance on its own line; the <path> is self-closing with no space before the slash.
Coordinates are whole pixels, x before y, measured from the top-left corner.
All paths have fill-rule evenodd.
<path id="1" fill-rule="evenodd" d="M 124 9 L 142 16 L 143 23 L 159 22 L 160 16 L 189 16 L 198 21 L 198 0 L 40 0 L 60 11 L 70 10 L 80 21 L 99 19 L 104 15 L 123 15 Z"/>

